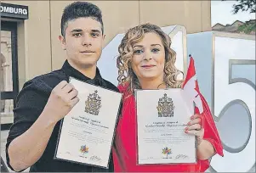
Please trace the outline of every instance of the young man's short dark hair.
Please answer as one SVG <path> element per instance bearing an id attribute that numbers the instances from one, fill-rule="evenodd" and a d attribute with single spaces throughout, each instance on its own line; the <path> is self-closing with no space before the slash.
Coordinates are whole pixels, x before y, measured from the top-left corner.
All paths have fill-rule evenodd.
<path id="1" fill-rule="evenodd" d="M 76 20 L 78 18 L 87 18 L 90 17 L 94 20 L 97 20 L 101 24 L 102 34 L 104 33 L 104 27 L 102 22 L 102 14 L 99 7 L 93 3 L 88 2 L 75 2 L 66 6 L 62 17 L 61 17 L 61 35 L 65 36 L 65 29 L 67 24 L 71 20 Z"/>

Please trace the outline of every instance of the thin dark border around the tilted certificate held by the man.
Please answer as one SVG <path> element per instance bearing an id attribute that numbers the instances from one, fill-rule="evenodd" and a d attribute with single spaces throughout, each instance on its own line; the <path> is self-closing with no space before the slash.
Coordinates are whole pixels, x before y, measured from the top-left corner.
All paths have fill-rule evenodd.
<path id="1" fill-rule="evenodd" d="M 68 82 L 70 82 L 71 79 L 75 79 L 77 81 L 82 81 L 82 80 L 79 80 L 79 79 L 77 79 L 75 77 L 70 76 L 69 79 L 68 79 Z M 93 85 L 91 83 L 88 83 L 87 81 L 82 81 L 82 82 L 87 83 L 88 85 L 91 85 L 91 86 L 95 86 L 95 85 Z M 100 88 L 103 88 L 105 90 L 109 90 L 111 92 L 117 92 L 117 91 L 111 90 L 109 88 L 106 88 L 105 85 L 104 86 L 96 86 L 96 87 L 100 87 Z M 60 142 L 60 134 L 61 134 L 61 130 L 62 130 L 62 127 L 63 127 L 63 121 L 64 121 L 65 117 L 62 120 L 60 120 L 60 129 L 59 129 L 59 135 L 58 135 L 58 138 L 57 138 L 57 144 L 56 144 L 56 148 L 55 148 L 54 159 L 61 160 L 61 161 L 66 161 L 66 162 L 70 162 L 70 163 L 74 163 L 74 164 L 78 164 L 78 165 L 88 165 L 88 166 L 103 168 L 103 169 L 106 169 L 106 170 L 109 169 L 110 159 L 111 159 L 111 149 L 113 147 L 114 138 L 115 138 L 115 135 L 116 135 L 117 122 L 119 120 L 120 114 L 122 113 L 122 98 L 123 98 L 123 94 L 121 92 L 117 92 L 117 93 L 121 94 L 121 99 L 120 99 L 119 107 L 118 107 L 118 110 L 117 110 L 117 118 L 116 118 L 115 127 L 114 127 L 114 131 L 113 131 L 113 136 L 112 136 L 112 140 L 111 140 L 111 148 L 110 148 L 110 151 L 109 151 L 109 159 L 108 159 L 107 166 L 105 167 L 105 166 L 100 166 L 100 165 L 93 165 L 93 164 L 82 163 L 82 162 L 77 162 L 77 161 L 68 160 L 68 159 L 60 159 L 60 158 L 56 157 L 57 156 L 57 152 L 58 152 L 59 142 Z"/>

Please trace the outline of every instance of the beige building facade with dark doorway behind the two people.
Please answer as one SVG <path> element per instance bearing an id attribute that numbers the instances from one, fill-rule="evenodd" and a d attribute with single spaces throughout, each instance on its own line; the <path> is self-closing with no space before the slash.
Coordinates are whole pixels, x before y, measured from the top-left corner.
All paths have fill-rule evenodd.
<path id="1" fill-rule="evenodd" d="M 74 1 L 2 1 L 1 114 L 11 124 L 13 99 L 31 78 L 59 69 L 65 61 L 60 47 L 60 19 Z M 119 33 L 151 22 L 183 25 L 188 33 L 211 31 L 210 1 L 92 1 L 102 10 L 106 46 Z M 21 6 L 19 6 L 21 5 Z"/>

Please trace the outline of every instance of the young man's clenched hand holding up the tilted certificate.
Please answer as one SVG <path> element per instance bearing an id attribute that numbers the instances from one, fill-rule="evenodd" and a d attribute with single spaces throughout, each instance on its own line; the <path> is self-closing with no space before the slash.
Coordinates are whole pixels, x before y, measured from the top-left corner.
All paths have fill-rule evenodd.
<path id="1" fill-rule="evenodd" d="M 66 81 L 61 81 L 51 92 L 43 112 L 50 116 L 48 117 L 50 120 L 57 123 L 79 102 L 77 94 L 74 86 Z"/>

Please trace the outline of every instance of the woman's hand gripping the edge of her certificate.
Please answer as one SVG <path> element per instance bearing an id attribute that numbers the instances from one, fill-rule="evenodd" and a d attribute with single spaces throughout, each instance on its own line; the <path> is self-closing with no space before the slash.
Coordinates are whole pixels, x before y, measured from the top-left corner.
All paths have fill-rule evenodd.
<path id="1" fill-rule="evenodd" d="M 204 135 L 204 130 L 202 128 L 202 118 L 199 114 L 194 114 L 191 116 L 191 121 L 188 122 L 185 127 L 185 133 L 195 135 L 197 138 L 197 146 L 202 142 L 202 137 Z"/>

